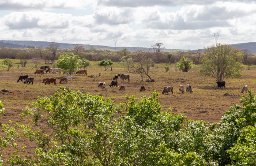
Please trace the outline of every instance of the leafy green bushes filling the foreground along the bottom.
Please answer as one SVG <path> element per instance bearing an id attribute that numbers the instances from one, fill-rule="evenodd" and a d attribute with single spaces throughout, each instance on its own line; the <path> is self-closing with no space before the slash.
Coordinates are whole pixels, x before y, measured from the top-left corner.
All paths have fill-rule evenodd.
<path id="1" fill-rule="evenodd" d="M 4 161 L 11 166 L 222 166 L 255 165 L 256 97 L 226 111 L 222 121 L 186 121 L 162 112 L 158 93 L 138 102 L 81 92 L 38 98 L 21 118 L 27 125 L 2 125 Z M 9 148 L 12 147 L 12 148 Z M 5 149 L 5 148 L 8 148 Z M 246 152 L 244 152 L 246 150 Z M 6 157 L 5 157 L 6 158 Z"/>

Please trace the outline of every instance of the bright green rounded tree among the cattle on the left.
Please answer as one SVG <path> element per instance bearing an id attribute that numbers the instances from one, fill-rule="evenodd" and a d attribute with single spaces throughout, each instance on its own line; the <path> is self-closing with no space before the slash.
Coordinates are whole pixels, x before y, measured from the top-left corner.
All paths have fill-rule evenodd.
<path id="1" fill-rule="evenodd" d="M 72 74 L 79 68 L 79 66 L 81 66 L 81 63 L 82 60 L 79 58 L 79 55 L 65 53 L 63 55 L 60 55 L 56 66 Z"/>

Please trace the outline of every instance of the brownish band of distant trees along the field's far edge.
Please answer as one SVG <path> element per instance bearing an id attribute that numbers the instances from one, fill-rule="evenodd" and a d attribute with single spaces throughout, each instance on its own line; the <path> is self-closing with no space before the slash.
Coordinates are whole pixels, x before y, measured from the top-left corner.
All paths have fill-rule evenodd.
<path id="1" fill-rule="evenodd" d="M 136 48 L 135 48 L 136 49 Z M 64 53 L 78 54 L 81 58 L 88 59 L 90 61 L 101 61 L 102 59 L 111 59 L 114 62 L 119 62 L 122 56 L 134 57 L 135 52 L 129 52 L 126 48 L 120 51 L 109 51 L 109 50 L 96 50 L 95 48 L 84 49 L 79 44 L 74 44 L 73 49 L 60 49 L 58 44 L 49 44 L 47 48 L 35 47 L 35 48 L 8 48 L 2 45 L 0 47 L 0 59 L 32 59 L 40 58 L 45 60 L 45 63 L 53 63 L 54 60 Z M 178 52 L 148 52 L 142 50 L 147 54 L 147 57 L 153 59 L 155 63 L 175 63 L 179 61 L 182 56 L 188 57 L 193 60 L 195 64 L 200 64 L 203 50 L 197 50 L 196 52 L 178 51 Z M 244 57 L 237 59 L 244 64 L 248 61 L 252 64 L 256 64 L 256 55 L 250 53 L 249 50 L 239 50 L 244 53 Z"/>

